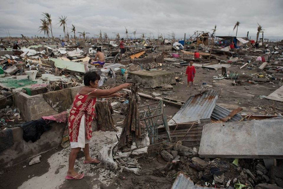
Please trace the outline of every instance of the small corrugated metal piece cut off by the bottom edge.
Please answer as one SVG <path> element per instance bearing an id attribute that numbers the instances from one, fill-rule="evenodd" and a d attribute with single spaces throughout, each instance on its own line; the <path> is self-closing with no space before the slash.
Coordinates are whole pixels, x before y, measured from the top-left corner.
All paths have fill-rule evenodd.
<path id="1" fill-rule="evenodd" d="M 171 189 L 192 189 L 194 182 L 190 177 L 186 176 L 183 172 L 179 172 Z"/>

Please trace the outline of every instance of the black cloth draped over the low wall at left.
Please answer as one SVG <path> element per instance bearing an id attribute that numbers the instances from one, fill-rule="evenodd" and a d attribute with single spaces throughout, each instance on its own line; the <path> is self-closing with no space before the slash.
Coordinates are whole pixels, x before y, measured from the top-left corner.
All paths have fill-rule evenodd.
<path id="1" fill-rule="evenodd" d="M 23 138 L 26 142 L 32 141 L 35 142 L 38 139 L 40 139 L 40 136 L 45 131 L 49 131 L 51 129 L 51 123 L 53 121 L 51 120 L 43 120 L 42 118 L 39 120 L 32 120 L 26 123 L 22 123 L 19 125 L 23 130 Z"/>

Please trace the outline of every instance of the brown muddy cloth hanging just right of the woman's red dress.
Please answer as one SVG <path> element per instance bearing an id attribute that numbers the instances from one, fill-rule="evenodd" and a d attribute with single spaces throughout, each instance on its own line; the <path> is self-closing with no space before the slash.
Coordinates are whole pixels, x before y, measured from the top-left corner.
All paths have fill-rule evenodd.
<path id="1" fill-rule="evenodd" d="M 114 120 L 112 118 L 112 114 L 114 113 L 114 111 L 109 101 L 96 101 L 95 111 L 98 122 L 98 130 L 118 131 L 118 129 L 114 126 Z"/>

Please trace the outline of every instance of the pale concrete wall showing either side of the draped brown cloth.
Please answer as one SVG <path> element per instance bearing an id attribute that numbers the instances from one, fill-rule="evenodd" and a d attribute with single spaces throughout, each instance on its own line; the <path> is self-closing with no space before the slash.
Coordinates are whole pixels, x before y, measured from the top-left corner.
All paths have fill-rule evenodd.
<path id="1" fill-rule="evenodd" d="M 75 95 L 79 92 L 81 87 L 83 87 L 83 85 L 71 88 L 73 98 L 75 98 Z M 42 94 L 29 96 L 23 92 L 19 92 L 14 94 L 13 96 L 14 103 L 16 107 L 19 108 L 21 117 L 24 121 L 37 120 L 40 119 L 42 116 L 55 115 L 57 113 L 60 113 L 55 111 L 45 101 Z"/>

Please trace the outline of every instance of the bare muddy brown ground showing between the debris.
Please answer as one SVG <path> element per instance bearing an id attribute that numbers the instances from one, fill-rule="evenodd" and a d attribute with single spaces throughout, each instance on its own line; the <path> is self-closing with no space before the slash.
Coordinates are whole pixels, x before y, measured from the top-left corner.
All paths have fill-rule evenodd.
<path id="1" fill-rule="evenodd" d="M 164 65 L 172 66 L 169 63 Z M 227 70 L 231 72 L 237 72 L 239 74 L 258 74 L 256 70 L 248 70 L 246 68 L 239 70 L 239 66 L 231 66 Z M 165 68 L 165 66 L 164 66 Z M 169 67 L 171 71 L 182 78 L 182 82 L 177 82 L 173 91 L 165 92 L 158 89 L 147 89 L 144 87 L 139 88 L 139 92 L 145 94 L 151 94 L 152 92 L 158 92 L 161 97 L 170 97 L 172 99 L 186 101 L 192 94 L 199 93 L 203 89 L 222 89 L 221 96 L 217 101 L 218 105 L 221 105 L 229 110 L 237 107 L 243 108 L 240 113 L 250 114 L 275 114 L 283 112 L 283 103 L 273 100 L 260 98 L 259 95 L 269 95 L 280 86 L 281 83 L 271 82 L 257 82 L 257 84 L 250 84 L 248 82 L 243 85 L 233 86 L 233 80 L 213 79 L 213 76 L 221 74 L 221 69 L 218 71 L 208 70 L 196 67 L 196 76 L 193 87 L 187 87 L 185 70 L 186 67 L 172 66 Z M 207 83 L 211 85 L 202 85 Z M 149 104 L 155 102 L 142 98 L 141 104 Z M 179 108 L 166 105 L 165 111 L 169 116 L 174 115 Z M 116 114 L 116 113 L 115 113 Z M 117 119 L 122 118 L 121 115 L 114 116 Z M 121 121 L 121 120 L 120 120 Z M 102 136 L 94 139 L 93 147 L 90 151 L 93 156 L 96 156 L 102 144 L 109 144 L 111 140 L 103 137 L 103 135 L 109 134 L 115 136 L 115 133 L 102 133 L 96 132 L 94 136 Z M 109 138 L 109 137 L 108 137 Z M 89 165 L 88 168 L 83 167 L 81 160 L 83 155 L 78 157 L 80 164 L 76 165 L 77 169 L 81 169 L 85 173 L 85 178 L 82 180 L 65 180 L 64 175 L 68 166 L 68 153 L 70 149 L 62 149 L 58 147 L 42 154 L 42 160 L 38 164 L 29 166 L 29 161 L 22 162 L 13 167 L 6 168 L 0 173 L 0 188 L 13 189 L 13 188 L 170 188 L 175 179 L 175 172 L 167 174 L 164 172 L 162 166 L 166 165 L 166 162 L 160 156 L 152 153 L 145 154 L 144 157 L 139 158 L 142 171 L 138 175 L 129 172 L 113 173 L 112 170 L 105 168 L 100 164 Z M 26 166 L 26 167 L 24 167 Z M 160 170 L 151 171 L 151 168 L 161 167 Z"/>

